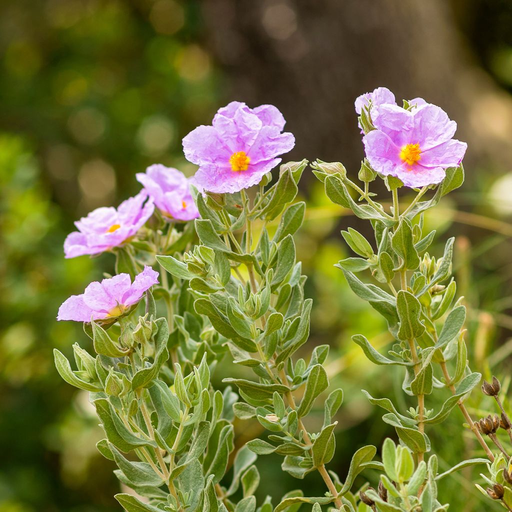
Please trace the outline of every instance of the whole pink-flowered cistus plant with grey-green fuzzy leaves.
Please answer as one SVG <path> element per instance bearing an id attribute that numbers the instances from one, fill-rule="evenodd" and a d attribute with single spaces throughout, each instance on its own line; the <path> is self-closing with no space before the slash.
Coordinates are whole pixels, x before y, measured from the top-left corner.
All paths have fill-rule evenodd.
<path id="1" fill-rule="evenodd" d="M 457 406 L 494 458 L 463 403 L 480 374 L 467 368 L 464 307 L 450 278 L 453 239 L 436 260 L 425 252 L 434 232 L 422 233 L 422 212 L 462 184 L 465 144 L 452 139 L 455 123 L 420 99 L 401 108 L 380 88 L 358 98 L 356 110 L 367 152 L 362 186 L 342 164 L 312 167 L 327 195 L 375 230 L 373 243 L 344 231 L 360 257 L 338 265 L 396 340 L 388 355 L 362 335 L 355 342 L 372 362 L 401 366 L 403 391 L 417 399 L 417 407 L 400 412 L 390 398 L 367 393 L 388 411 L 383 419 L 395 427 L 398 444 L 387 439 L 381 461 L 374 460 L 374 445 L 360 447 L 345 475 L 328 467 L 343 391 L 329 386 L 329 346 L 306 344 L 312 301 L 304 295 L 293 239 L 305 214 L 296 195 L 308 162 L 282 164 L 272 183 L 271 170 L 294 137 L 283 132 L 274 106 L 232 102 L 183 139 L 186 158 L 199 166 L 193 178 L 149 167 L 137 174 L 144 188 L 135 198 L 117 209 L 98 208 L 65 243 L 68 258 L 115 256 L 116 274 L 68 298 L 58 313 L 61 321 L 83 322 L 95 354 L 75 344 L 76 369 L 57 350 L 55 362 L 64 380 L 90 393 L 105 433 L 98 450 L 133 490 L 116 495 L 128 512 L 445 510 L 437 500 L 439 480 L 487 461 L 438 473 L 428 430 Z M 390 211 L 369 191 L 377 176 L 392 192 Z M 407 206 L 398 202 L 403 185 L 422 187 Z M 433 197 L 420 201 L 431 188 Z M 378 285 L 355 275 L 368 270 Z M 221 391 L 210 377 L 222 359 L 233 374 L 224 375 Z M 439 411 L 428 408 L 433 392 L 448 395 Z M 318 407 L 323 421 L 313 428 L 309 416 Z M 262 435 L 235 443 L 236 417 L 259 422 Z M 282 470 L 299 481 L 317 473 L 325 494 L 308 496 L 299 485 L 257 502 L 254 463 L 268 454 L 281 456 Z M 369 469 L 380 473 L 375 488 L 354 489 Z"/>

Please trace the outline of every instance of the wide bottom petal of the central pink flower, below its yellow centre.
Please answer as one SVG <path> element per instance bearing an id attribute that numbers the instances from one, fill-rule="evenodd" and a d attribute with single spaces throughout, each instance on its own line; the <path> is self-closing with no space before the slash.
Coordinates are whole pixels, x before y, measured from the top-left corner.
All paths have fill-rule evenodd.
<path id="1" fill-rule="evenodd" d="M 247 170 L 233 171 L 231 167 L 201 166 L 196 181 L 210 192 L 235 193 L 260 183 L 263 176 L 281 162 L 281 158 L 250 164 Z"/>

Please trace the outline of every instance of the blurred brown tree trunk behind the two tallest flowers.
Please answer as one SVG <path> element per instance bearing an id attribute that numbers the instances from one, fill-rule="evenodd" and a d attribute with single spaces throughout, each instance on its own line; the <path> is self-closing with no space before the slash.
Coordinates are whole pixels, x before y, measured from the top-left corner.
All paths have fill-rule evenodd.
<path id="1" fill-rule="evenodd" d="M 378 86 L 442 106 L 467 141 L 466 168 L 508 167 L 512 100 L 475 63 L 443 0 L 206 0 L 226 100 L 278 105 L 292 159 L 362 157 L 354 99 Z M 468 178 L 471 179 L 471 173 Z"/>

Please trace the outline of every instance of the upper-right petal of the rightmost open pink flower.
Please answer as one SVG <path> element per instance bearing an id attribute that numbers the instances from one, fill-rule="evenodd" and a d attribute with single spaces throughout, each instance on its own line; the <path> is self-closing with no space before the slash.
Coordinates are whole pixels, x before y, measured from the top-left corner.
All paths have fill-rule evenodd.
<path id="1" fill-rule="evenodd" d="M 457 123 L 437 105 L 424 105 L 413 110 L 413 114 L 411 142 L 419 143 L 422 152 L 450 140 L 457 131 Z"/>

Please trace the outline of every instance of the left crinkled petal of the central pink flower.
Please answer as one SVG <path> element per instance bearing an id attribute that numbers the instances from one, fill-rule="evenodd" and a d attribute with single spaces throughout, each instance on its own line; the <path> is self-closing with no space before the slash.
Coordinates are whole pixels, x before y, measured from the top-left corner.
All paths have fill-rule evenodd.
<path id="1" fill-rule="evenodd" d="M 197 165 L 227 162 L 233 154 L 213 126 L 198 126 L 182 142 L 185 158 Z"/>

